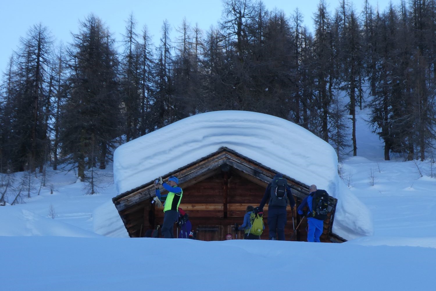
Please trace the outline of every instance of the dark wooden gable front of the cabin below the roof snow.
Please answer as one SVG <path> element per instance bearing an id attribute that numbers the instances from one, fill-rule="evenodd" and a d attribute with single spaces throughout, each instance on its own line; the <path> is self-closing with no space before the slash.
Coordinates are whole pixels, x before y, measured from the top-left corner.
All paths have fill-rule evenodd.
<path id="1" fill-rule="evenodd" d="M 236 236 L 233 225 L 242 224 L 247 205 L 259 205 L 265 188 L 276 171 L 244 157 L 226 147 L 191 164 L 164 175 L 175 175 L 184 189 L 180 207 L 184 209 L 201 240 L 223 240 L 226 233 Z M 283 175 L 292 189 L 298 206 L 309 186 Z M 116 196 L 112 199 L 131 237 L 141 237 L 146 229 L 153 229 L 163 221 L 163 212 L 152 204 L 155 196 L 153 181 Z M 341 240 L 331 233 L 337 199 L 330 197 L 329 217 L 324 223 L 324 241 Z M 268 206 L 264 208 L 266 229 L 262 239 L 268 239 Z M 296 208 L 288 206 L 288 223 L 285 235 L 293 234 L 293 225 L 300 223 Z M 294 240 L 303 240 L 306 223 L 302 223 Z M 239 237 L 242 233 L 239 233 Z"/>

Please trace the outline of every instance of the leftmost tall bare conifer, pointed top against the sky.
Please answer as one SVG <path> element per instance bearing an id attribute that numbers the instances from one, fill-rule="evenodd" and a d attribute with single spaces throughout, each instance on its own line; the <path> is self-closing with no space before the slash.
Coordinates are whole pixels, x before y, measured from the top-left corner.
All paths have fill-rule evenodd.
<path id="1" fill-rule="evenodd" d="M 10 96 L 11 147 L 14 148 L 13 167 L 24 171 L 27 163 L 33 172 L 43 158 L 46 143 L 45 113 L 48 106 L 49 68 L 52 40 L 47 27 L 31 27 L 20 48 L 14 65 L 14 95 Z"/>

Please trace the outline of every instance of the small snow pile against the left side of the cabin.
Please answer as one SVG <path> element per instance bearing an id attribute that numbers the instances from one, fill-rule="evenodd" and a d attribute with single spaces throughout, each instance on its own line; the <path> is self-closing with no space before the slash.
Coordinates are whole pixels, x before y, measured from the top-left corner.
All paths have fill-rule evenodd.
<path id="1" fill-rule="evenodd" d="M 129 237 L 112 200 L 92 212 L 92 222 L 95 233 L 109 237 Z"/>

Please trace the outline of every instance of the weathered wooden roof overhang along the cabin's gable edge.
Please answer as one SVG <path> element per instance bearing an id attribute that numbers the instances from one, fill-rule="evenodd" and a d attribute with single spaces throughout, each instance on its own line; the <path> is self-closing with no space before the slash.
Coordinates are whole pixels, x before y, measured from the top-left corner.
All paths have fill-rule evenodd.
<path id="1" fill-rule="evenodd" d="M 171 175 L 177 176 L 179 185 L 182 188 L 187 188 L 191 185 L 198 183 L 206 178 L 209 178 L 219 172 L 226 165 L 232 167 L 232 171 L 249 181 L 252 181 L 262 187 L 265 187 L 271 182 L 277 171 L 268 168 L 257 161 L 245 157 L 227 147 L 221 147 L 218 151 L 202 157 L 197 161 L 187 164 L 175 171 L 171 171 L 162 176 L 166 179 Z M 309 186 L 296 181 L 295 179 L 283 174 L 283 177 L 288 180 L 288 185 L 292 189 L 292 193 L 301 200 L 309 194 Z M 157 178 L 157 177 L 155 177 Z M 143 215 L 144 203 L 148 202 L 150 198 L 155 196 L 154 179 L 145 184 L 136 187 L 132 190 L 124 192 L 112 198 L 119 215 L 123 219 L 126 229 L 139 229 L 140 221 L 132 219 L 133 212 L 139 212 L 138 216 Z M 260 202 L 260 201 L 259 201 Z M 330 196 L 329 205 L 332 217 L 330 219 L 329 232 L 333 226 L 334 210 L 336 209 L 337 199 Z M 129 234 L 133 231 L 129 231 Z M 339 238 L 344 241 L 343 239 Z"/>

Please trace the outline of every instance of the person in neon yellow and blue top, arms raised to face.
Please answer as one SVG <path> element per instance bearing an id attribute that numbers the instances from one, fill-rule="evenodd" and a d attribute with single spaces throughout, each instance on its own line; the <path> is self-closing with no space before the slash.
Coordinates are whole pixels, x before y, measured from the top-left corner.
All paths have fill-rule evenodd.
<path id="1" fill-rule="evenodd" d="M 168 183 L 159 177 L 159 183 L 165 190 L 168 191 L 167 195 L 160 195 L 160 189 L 156 188 L 156 196 L 164 203 L 164 223 L 162 224 L 162 235 L 164 238 L 174 238 L 173 225 L 179 218 L 178 207 L 182 200 L 183 190 L 178 186 L 179 179 L 176 176 L 170 176 Z"/>

